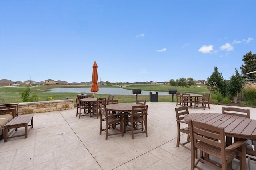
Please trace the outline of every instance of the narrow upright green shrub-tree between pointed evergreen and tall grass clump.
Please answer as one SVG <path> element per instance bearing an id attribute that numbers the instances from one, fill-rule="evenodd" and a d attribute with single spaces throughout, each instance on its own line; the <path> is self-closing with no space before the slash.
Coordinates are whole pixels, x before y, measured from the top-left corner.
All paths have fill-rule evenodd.
<path id="1" fill-rule="evenodd" d="M 236 69 L 236 75 L 230 77 L 228 84 L 228 91 L 232 97 L 234 97 L 234 103 L 237 103 L 238 94 L 242 91 L 244 86 L 244 78 L 238 73 Z"/>

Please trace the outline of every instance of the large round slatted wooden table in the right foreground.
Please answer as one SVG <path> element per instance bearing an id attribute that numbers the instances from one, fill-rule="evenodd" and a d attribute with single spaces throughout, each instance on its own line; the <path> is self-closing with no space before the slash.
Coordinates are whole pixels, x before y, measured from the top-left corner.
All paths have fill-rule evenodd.
<path id="1" fill-rule="evenodd" d="M 231 137 L 256 140 L 256 120 L 235 115 L 222 113 L 192 113 L 184 116 L 184 120 L 189 119 L 224 127 L 225 135 L 228 137 L 227 145 L 231 144 Z M 242 169 L 246 169 L 246 157 L 242 160 Z"/>

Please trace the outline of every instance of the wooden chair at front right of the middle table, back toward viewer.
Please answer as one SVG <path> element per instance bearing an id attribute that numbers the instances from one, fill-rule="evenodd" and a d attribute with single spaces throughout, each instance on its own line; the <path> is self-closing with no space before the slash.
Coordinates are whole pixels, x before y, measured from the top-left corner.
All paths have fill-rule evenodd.
<path id="1" fill-rule="evenodd" d="M 130 129 L 126 128 L 126 132 L 132 135 L 132 139 L 138 133 L 145 133 L 148 137 L 147 115 L 148 105 L 132 106 L 132 112 L 127 113 L 125 119 L 130 123 Z M 141 127 L 136 126 L 136 123 L 140 123 Z"/>

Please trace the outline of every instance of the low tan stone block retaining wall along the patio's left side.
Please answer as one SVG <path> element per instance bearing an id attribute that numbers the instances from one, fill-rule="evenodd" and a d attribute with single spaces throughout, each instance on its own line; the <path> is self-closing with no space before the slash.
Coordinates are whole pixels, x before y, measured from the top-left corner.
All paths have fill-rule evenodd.
<path id="1" fill-rule="evenodd" d="M 43 113 L 49 111 L 60 111 L 74 108 L 74 100 L 50 100 L 41 102 L 19 103 L 18 114 Z"/>

